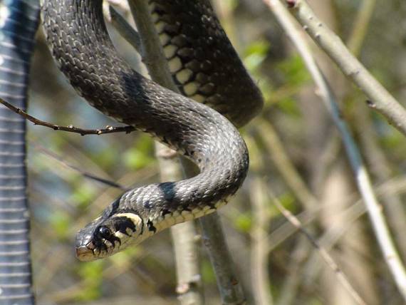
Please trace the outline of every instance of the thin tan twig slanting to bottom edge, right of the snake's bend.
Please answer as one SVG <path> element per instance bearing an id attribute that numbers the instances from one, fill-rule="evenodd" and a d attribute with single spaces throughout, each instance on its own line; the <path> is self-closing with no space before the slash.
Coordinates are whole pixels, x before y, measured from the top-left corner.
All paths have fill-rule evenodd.
<path id="1" fill-rule="evenodd" d="M 333 257 L 330 257 L 330 254 L 328 254 L 326 249 L 321 247 L 321 245 L 316 241 L 316 239 L 314 239 L 311 236 L 311 234 L 309 234 L 306 231 L 306 229 L 303 228 L 299 219 L 297 219 L 291 212 L 286 210 L 285 207 L 283 207 L 283 205 L 281 204 L 281 202 L 279 202 L 279 200 L 271 192 L 271 190 L 270 189 L 268 190 L 269 196 L 274 201 L 274 204 L 276 205 L 278 210 L 283 214 L 283 216 L 288 220 L 288 222 L 290 222 L 294 227 L 296 227 L 296 229 L 298 229 L 303 235 L 305 235 L 306 238 L 311 242 L 311 244 L 313 244 L 313 247 L 317 249 L 318 253 L 321 255 L 321 257 L 323 258 L 324 262 L 326 262 L 328 267 L 330 267 L 330 269 L 333 270 L 340 283 L 344 286 L 345 290 L 348 291 L 348 293 L 353 297 L 353 299 L 357 302 L 357 304 L 366 305 L 365 301 L 363 301 L 358 292 L 355 291 L 353 286 L 351 286 L 350 281 L 348 281 L 347 277 L 345 276 L 345 274 L 343 274 L 340 267 L 338 267 L 338 264 L 334 262 Z"/>

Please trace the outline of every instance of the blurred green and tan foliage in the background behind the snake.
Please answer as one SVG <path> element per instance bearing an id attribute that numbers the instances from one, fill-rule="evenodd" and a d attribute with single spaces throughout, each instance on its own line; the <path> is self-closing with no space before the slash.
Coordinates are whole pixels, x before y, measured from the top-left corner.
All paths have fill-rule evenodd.
<path id="1" fill-rule="evenodd" d="M 264 246 L 263 268 L 275 304 L 353 304 L 317 250 L 274 206 L 268 190 L 298 215 L 368 304 L 403 304 L 360 204 L 340 139 L 315 93 L 306 68 L 274 16 L 260 0 L 212 1 L 219 18 L 266 100 L 260 118 L 241 130 L 251 169 L 244 187 L 220 214 L 236 270 L 249 304 L 254 249 Z M 312 0 L 310 4 L 344 41 L 357 26 L 361 0 Z M 378 1 L 359 57 L 386 88 L 405 100 L 405 1 Z M 132 48 L 109 28 L 120 53 L 145 71 Z M 41 31 L 33 58 L 29 113 L 59 125 L 117 125 L 80 98 L 58 72 Z M 406 261 L 406 145 L 394 128 L 368 109 L 317 48 L 318 63 L 342 103 L 380 195 L 387 222 Z M 169 231 L 98 262 L 73 253 L 80 227 L 98 215 L 120 190 L 85 177 L 88 173 L 125 187 L 159 180 L 151 138 L 142 133 L 80 135 L 29 125 L 28 167 L 32 210 L 33 272 L 38 304 L 177 304 Z M 282 145 L 282 153 L 275 150 Z M 302 185 L 289 182 L 286 157 Z M 304 187 L 304 190 L 303 190 Z M 393 204 L 393 200 L 397 203 Z M 358 204 L 357 204 L 358 202 Z M 258 213 L 259 212 L 259 213 Z M 265 216 L 259 221 L 258 215 Z M 262 235 L 256 235 L 256 229 Z M 327 235 L 326 233 L 330 234 Z M 260 239 L 257 236 L 262 236 Z M 207 304 L 219 304 L 212 267 L 202 247 Z"/>

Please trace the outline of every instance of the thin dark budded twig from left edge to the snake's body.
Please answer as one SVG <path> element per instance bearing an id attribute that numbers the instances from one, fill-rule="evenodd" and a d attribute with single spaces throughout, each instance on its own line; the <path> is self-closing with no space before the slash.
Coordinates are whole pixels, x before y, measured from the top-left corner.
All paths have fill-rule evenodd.
<path id="1" fill-rule="evenodd" d="M 67 131 L 68 133 L 79 133 L 80 135 L 103 135 L 105 133 L 131 133 L 132 131 L 135 130 L 135 128 L 133 128 L 132 126 L 109 126 L 108 125 L 105 128 L 99 128 L 99 129 L 83 129 L 83 128 L 77 128 L 73 125 L 61 126 L 61 125 L 56 125 L 53 123 L 48 123 L 45 120 L 39 120 L 38 118 L 34 118 L 32 115 L 29 115 L 24 110 L 21 110 L 20 108 L 17 108 L 14 105 L 11 105 L 10 103 L 6 102 L 6 100 L 3 100 L 2 98 L 0 98 L 0 104 L 5 105 L 11 111 L 13 111 L 14 113 L 17 113 L 18 115 L 21 115 L 21 117 L 25 118 L 26 120 L 29 120 L 34 125 L 41 125 L 44 127 L 51 128 L 53 130 Z"/>

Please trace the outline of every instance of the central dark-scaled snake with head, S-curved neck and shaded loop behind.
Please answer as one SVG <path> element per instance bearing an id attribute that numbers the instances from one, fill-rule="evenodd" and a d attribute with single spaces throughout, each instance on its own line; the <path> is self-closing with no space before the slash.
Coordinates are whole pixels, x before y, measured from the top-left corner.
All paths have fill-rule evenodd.
<path id="1" fill-rule="evenodd" d="M 182 94 L 145 78 L 118 55 L 102 0 L 43 0 L 47 44 L 71 86 L 105 115 L 192 160 L 199 174 L 124 192 L 80 229 L 76 256 L 92 261 L 140 244 L 227 204 L 249 168 L 237 128 L 263 98 L 209 0 L 149 0 L 150 18 Z M 135 9 L 136 9 L 135 4 Z"/>

